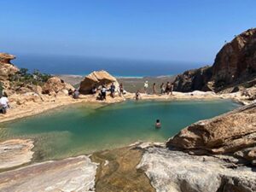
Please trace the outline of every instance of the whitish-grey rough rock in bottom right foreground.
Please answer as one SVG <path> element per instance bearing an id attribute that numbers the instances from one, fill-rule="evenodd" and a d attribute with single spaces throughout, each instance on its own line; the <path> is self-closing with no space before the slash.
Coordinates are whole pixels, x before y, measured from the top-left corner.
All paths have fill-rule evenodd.
<path id="1" fill-rule="evenodd" d="M 256 172 L 211 156 L 196 156 L 167 148 L 148 148 L 137 166 L 157 192 L 254 192 Z"/>

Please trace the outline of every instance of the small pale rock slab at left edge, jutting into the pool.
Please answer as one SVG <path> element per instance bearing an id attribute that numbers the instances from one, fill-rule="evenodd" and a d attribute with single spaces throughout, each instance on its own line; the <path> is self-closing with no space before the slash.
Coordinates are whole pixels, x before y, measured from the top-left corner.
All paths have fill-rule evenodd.
<path id="1" fill-rule="evenodd" d="M 0 169 L 26 164 L 32 160 L 31 140 L 13 139 L 0 143 Z"/>

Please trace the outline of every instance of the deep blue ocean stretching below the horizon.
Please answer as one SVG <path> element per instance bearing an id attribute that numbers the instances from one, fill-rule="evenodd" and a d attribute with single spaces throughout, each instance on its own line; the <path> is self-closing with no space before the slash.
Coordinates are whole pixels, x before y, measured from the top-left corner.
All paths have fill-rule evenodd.
<path id="1" fill-rule="evenodd" d="M 201 67 L 202 63 L 180 61 L 146 61 L 130 59 L 96 58 L 71 55 L 16 55 L 12 61 L 18 67 L 42 73 L 86 75 L 106 70 L 118 77 L 170 76 Z"/>

